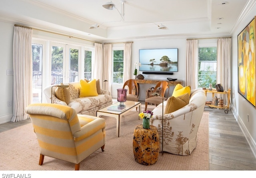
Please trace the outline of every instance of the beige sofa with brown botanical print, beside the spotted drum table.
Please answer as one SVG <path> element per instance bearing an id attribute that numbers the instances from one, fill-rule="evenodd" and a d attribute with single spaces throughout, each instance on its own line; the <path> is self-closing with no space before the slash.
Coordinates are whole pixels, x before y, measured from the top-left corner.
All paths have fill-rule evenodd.
<path id="1" fill-rule="evenodd" d="M 178 155 L 190 155 L 196 148 L 198 127 L 206 102 L 202 89 L 191 90 L 189 103 L 169 114 L 164 114 L 163 150 Z M 164 101 L 164 110 L 167 101 Z M 160 152 L 162 152 L 162 104 L 152 110 L 150 124 L 156 126 L 159 133 Z"/>

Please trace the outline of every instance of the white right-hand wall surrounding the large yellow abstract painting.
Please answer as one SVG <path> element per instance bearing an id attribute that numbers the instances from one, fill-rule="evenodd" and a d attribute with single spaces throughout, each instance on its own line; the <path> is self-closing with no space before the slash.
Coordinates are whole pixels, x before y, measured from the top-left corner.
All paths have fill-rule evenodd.
<path id="1" fill-rule="evenodd" d="M 237 36 L 256 15 L 256 5 L 244 18 L 232 36 L 232 110 L 256 156 L 256 109 L 238 93 L 238 44 Z M 255 34 L 256 32 L 254 32 Z M 254 38 L 255 39 L 255 38 Z M 249 115 L 249 121 L 247 120 Z"/>

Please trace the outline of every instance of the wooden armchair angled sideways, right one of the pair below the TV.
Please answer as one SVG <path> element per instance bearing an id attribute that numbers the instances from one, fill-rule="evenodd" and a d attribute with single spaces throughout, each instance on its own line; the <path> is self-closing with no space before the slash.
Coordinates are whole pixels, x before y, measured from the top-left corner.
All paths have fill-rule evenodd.
<path id="1" fill-rule="evenodd" d="M 153 92 L 152 92 L 151 94 L 153 94 L 154 92 L 156 92 L 156 90 L 157 90 L 158 88 L 161 88 L 161 90 L 160 90 L 160 91 L 161 91 L 160 95 L 164 98 L 164 100 L 166 100 L 166 99 L 168 98 L 168 96 L 167 96 L 167 98 L 165 98 L 165 97 L 164 97 L 164 94 L 165 94 L 166 89 L 169 88 L 169 87 L 168 87 L 168 82 L 166 82 L 166 81 L 160 81 L 160 82 L 158 82 L 158 83 L 156 84 L 156 86 L 155 86 Z M 169 94 L 169 91 L 168 91 L 168 94 Z M 163 98 L 162 98 L 162 97 L 160 97 L 160 96 L 158 96 L 158 95 L 156 95 L 156 96 L 152 96 L 152 95 L 151 95 L 149 98 L 146 98 L 146 100 L 145 100 L 145 111 L 147 110 L 148 103 L 154 103 L 154 104 L 156 104 L 156 106 L 157 106 L 158 104 L 162 103 L 162 101 L 163 101 Z"/>

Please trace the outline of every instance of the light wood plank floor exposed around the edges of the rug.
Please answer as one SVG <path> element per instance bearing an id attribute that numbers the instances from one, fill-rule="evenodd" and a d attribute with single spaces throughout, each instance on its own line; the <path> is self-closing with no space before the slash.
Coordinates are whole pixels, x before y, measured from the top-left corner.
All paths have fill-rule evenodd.
<path id="1" fill-rule="evenodd" d="M 209 165 L 210 170 L 256 170 L 256 159 L 246 142 L 231 111 L 209 108 Z M 30 123 L 21 122 L 0 124 L 0 132 Z"/>

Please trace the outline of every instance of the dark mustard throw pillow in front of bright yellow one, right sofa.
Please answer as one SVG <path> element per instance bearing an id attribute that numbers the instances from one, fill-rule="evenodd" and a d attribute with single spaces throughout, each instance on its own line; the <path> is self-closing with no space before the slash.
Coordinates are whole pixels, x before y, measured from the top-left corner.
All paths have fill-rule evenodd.
<path id="1" fill-rule="evenodd" d="M 168 114 L 171 112 L 174 112 L 184 106 L 186 106 L 189 103 L 189 95 L 188 93 L 183 94 L 178 97 L 171 96 L 168 98 L 166 107 L 164 110 L 164 114 Z"/>

